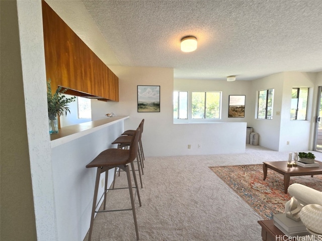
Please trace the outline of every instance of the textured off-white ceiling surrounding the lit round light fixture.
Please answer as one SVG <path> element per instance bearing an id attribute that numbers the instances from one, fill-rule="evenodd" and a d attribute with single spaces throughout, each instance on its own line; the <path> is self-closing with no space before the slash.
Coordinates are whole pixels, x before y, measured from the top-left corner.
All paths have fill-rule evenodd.
<path id="1" fill-rule="evenodd" d="M 252 80 L 322 71 L 320 0 L 83 0 L 121 65 L 174 68 L 175 78 Z M 180 51 L 196 36 L 198 48 Z"/>

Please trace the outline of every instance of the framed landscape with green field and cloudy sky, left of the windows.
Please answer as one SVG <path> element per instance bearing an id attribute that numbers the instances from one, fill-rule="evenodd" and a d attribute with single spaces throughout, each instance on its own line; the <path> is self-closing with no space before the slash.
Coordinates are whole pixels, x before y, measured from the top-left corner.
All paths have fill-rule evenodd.
<path id="1" fill-rule="evenodd" d="M 137 112 L 160 112 L 160 86 L 137 86 Z"/>

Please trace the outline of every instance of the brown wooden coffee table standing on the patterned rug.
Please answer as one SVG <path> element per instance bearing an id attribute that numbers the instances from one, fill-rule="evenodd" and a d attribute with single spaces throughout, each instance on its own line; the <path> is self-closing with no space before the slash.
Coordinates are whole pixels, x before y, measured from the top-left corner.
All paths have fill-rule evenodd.
<path id="1" fill-rule="evenodd" d="M 273 171 L 276 171 L 282 175 L 284 175 L 284 192 L 287 193 L 287 188 L 290 184 L 290 177 L 295 176 L 307 176 L 311 175 L 318 175 L 322 174 L 322 162 L 316 161 L 320 165 L 319 167 L 288 167 L 287 161 L 281 161 L 281 162 L 264 162 L 263 163 L 263 172 L 264 172 L 264 179 L 267 177 L 267 168 L 272 169 Z"/>

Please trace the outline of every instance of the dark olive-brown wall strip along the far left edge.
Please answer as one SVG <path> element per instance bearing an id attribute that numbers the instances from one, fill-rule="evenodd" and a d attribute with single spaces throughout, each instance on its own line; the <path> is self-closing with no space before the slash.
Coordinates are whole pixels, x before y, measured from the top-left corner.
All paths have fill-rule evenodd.
<path id="1" fill-rule="evenodd" d="M 1 240 L 36 240 L 16 1 L 1 1 Z"/>

